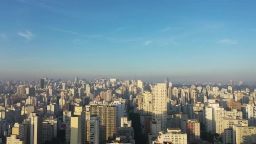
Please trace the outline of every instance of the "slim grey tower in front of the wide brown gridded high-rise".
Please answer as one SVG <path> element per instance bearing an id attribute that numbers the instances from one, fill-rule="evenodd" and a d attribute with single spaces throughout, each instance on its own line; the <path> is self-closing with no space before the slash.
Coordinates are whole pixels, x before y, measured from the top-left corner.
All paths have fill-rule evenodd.
<path id="1" fill-rule="evenodd" d="M 91 115 L 90 118 L 90 144 L 101 144 L 102 136 L 100 133 L 101 120 L 98 115 Z"/>

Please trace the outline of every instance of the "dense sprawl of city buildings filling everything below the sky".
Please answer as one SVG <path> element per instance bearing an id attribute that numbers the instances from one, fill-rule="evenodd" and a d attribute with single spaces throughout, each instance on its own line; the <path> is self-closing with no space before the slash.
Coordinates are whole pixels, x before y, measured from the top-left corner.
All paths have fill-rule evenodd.
<path id="1" fill-rule="evenodd" d="M 135 144 L 138 133 L 147 144 L 206 144 L 205 135 L 211 142 L 252 144 L 256 89 L 243 86 L 232 80 L 173 85 L 167 77 L 155 84 L 78 77 L 2 80 L 0 144 Z"/>

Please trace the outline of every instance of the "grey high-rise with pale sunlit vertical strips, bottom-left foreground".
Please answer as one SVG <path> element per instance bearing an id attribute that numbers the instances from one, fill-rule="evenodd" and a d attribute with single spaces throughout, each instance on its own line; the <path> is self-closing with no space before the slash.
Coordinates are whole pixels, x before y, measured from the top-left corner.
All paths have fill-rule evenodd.
<path id="1" fill-rule="evenodd" d="M 42 115 L 36 113 L 29 113 L 29 144 L 41 144 L 42 136 Z"/>

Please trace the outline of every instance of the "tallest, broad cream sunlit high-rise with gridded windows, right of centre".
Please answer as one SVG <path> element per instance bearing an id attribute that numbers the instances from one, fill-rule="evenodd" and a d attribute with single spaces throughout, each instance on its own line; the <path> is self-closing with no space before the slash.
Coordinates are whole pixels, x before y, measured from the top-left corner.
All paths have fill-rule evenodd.
<path id="1" fill-rule="evenodd" d="M 152 88 L 152 118 L 161 120 L 161 130 L 166 130 L 166 120 L 167 120 L 167 85 L 166 83 L 157 83 L 154 88 Z"/>

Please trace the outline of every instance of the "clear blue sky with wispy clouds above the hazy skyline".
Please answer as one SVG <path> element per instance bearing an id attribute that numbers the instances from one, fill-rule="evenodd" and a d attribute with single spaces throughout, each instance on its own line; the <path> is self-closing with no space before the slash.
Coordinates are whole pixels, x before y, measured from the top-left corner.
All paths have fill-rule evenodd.
<path id="1" fill-rule="evenodd" d="M 255 0 L 0 0 L 0 78 L 256 81 Z"/>

